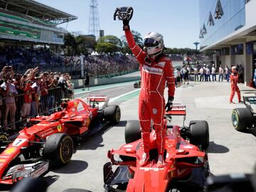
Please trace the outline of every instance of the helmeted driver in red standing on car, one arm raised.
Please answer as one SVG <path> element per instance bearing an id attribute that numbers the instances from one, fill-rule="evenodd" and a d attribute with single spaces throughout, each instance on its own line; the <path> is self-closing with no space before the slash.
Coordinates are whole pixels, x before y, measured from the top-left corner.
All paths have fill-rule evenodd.
<path id="1" fill-rule="evenodd" d="M 145 166 L 149 161 L 149 142 L 151 119 L 154 122 L 156 131 L 156 146 L 158 149 L 157 166 L 164 166 L 164 110 L 171 110 L 174 100 L 175 80 L 171 60 L 163 54 L 164 39 L 156 32 L 148 33 L 144 37 L 144 48 L 140 48 L 134 41 L 132 32 L 129 29 L 129 20 L 123 20 L 123 30 L 127 43 L 132 53 L 139 62 L 139 69 L 142 77 L 142 89 L 139 93 L 139 122 L 142 132 L 142 159 L 140 166 Z M 164 107 L 164 88 L 169 88 L 168 101 Z"/>

